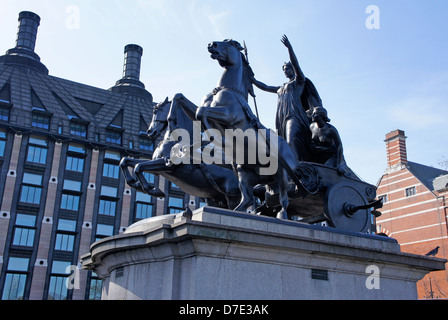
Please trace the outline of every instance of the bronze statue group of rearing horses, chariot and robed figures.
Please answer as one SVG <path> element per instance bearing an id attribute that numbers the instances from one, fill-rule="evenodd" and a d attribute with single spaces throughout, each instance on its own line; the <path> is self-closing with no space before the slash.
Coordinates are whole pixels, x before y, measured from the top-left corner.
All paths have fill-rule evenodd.
<path id="1" fill-rule="evenodd" d="M 146 180 L 144 173 L 149 172 L 164 176 L 187 194 L 204 198 L 208 205 L 242 212 L 255 209 L 257 214 L 279 219 L 316 215 L 335 227 L 368 230 L 370 208 L 378 207 L 374 201 L 376 189 L 361 181 L 346 165 L 339 133 L 329 123 L 314 84 L 303 74 L 288 38 L 283 36 L 281 42 L 290 58 L 282 67 L 288 81 L 281 86 L 270 86 L 255 78 L 247 50 L 237 41 L 210 43 L 210 57 L 224 69 L 218 85 L 199 106 L 178 93 L 171 101 L 166 99 L 154 108 L 148 134 L 152 139 L 163 139 L 151 160 L 122 159 L 120 167 L 128 185 L 153 196 L 164 196 L 162 190 Z M 258 111 L 255 116 L 249 106 L 249 95 L 255 97 L 254 85 L 278 96 L 277 134 L 263 126 Z M 236 148 L 230 166 L 175 163 L 173 150 L 180 149 L 171 132 L 182 129 L 188 137 L 183 145 L 193 147 L 197 144 L 190 137 L 194 137 L 196 123 L 200 123 L 203 132 L 214 130 L 220 137 L 226 137 L 226 130 L 254 132 L 256 143 L 264 141 L 278 169 L 263 174 L 265 163 L 260 159 L 256 163 L 239 162 L 238 153 L 247 150 Z M 273 145 L 272 141 L 278 142 Z M 246 148 L 253 148 L 253 144 L 248 141 Z M 260 190 L 264 195 L 260 195 Z M 262 200 L 261 206 L 257 207 L 255 195 Z M 339 203 L 340 199 L 347 201 Z M 358 211 L 364 214 L 354 215 Z"/>

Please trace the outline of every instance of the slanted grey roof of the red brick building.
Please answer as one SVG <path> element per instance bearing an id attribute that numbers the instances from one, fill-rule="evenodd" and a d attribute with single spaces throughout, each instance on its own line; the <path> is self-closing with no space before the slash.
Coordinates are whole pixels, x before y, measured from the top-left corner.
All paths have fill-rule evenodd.
<path id="1" fill-rule="evenodd" d="M 448 187 L 448 171 L 408 161 L 409 171 L 430 191 Z"/>

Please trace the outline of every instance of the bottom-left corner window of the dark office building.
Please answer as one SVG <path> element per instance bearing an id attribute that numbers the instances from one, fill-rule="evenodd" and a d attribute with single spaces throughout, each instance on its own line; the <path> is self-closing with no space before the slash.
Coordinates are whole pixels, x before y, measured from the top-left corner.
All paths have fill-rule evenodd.
<path id="1" fill-rule="evenodd" d="M 29 263 L 28 258 L 9 258 L 2 300 L 23 300 Z"/>

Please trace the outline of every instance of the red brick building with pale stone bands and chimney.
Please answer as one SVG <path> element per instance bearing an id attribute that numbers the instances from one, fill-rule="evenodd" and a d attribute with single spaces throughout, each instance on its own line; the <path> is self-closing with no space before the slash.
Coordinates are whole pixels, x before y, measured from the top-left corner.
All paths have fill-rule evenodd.
<path id="1" fill-rule="evenodd" d="M 396 239 L 404 252 L 425 255 L 438 248 L 448 258 L 448 171 L 407 160 L 404 131 L 386 135 L 387 169 L 378 182 L 383 199 L 377 233 Z M 418 283 L 420 299 L 448 299 L 448 271 Z"/>

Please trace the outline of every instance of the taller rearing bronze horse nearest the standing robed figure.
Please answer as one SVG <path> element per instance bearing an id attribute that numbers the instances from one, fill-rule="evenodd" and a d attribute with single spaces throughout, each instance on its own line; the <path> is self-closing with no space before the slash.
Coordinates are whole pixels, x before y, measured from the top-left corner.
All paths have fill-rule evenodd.
<path id="1" fill-rule="evenodd" d="M 194 105 L 182 94 L 175 95 L 172 100 L 171 112 L 180 107 L 185 110 L 185 113 L 191 119 L 200 120 L 204 129 L 218 130 L 222 137 L 225 136 L 227 129 L 240 129 L 243 132 L 253 130 L 256 132 L 257 141 L 248 141 L 246 147 L 253 147 L 260 141 L 264 142 L 271 156 L 275 156 L 276 152 L 273 151 L 278 148 L 274 160 L 278 161 L 279 167 L 275 173 L 270 175 L 260 174 L 263 165 L 259 161 L 255 164 L 238 163 L 237 152 L 241 150 L 234 150 L 233 160 L 236 163 L 239 187 L 242 193 L 242 200 L 235 210 L 245 211 L 254 204 L 253 190 L 257 184 L 276 183 L 281 205 L 277 218 L 288 219 L 287 178 L 289 175 L 297 186 L 300 185 L 300 179 L 296 174 L 298 161 L 286 141 L 266 129 L 251 111 L 247 99 L 249 92 L 252 90 L 251 78 L 253 72 L 241 53 L 242 50 L 243 47 L 234 40 L 210 43 L 208 51 L 211 58 L 224 68 L 218 86 L 203 99 L 200 107 Z M 260 132 L 264 133 L 261 134 Z M 278 138 L 278 144 L 275 145 L 275 148 L 270 143 L 272 135 L 275 135 L 275 139 Z"/>

